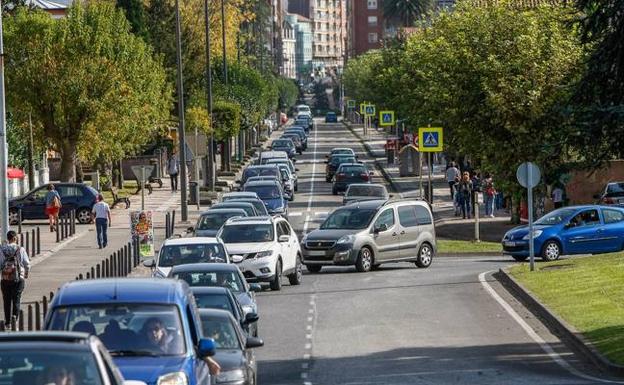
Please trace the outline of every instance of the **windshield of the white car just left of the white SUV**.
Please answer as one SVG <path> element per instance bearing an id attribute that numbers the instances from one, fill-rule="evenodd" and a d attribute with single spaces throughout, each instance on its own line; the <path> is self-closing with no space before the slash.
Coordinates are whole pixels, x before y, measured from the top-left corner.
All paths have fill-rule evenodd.
<path id="1" fill-rule="evenodd" d="M 197 238 L 195 238 L 197 239 Z M 227 262 L 220 243 L 166 245 L 158 256 L 159 267 L 173 267 L 189 263 Z"/>

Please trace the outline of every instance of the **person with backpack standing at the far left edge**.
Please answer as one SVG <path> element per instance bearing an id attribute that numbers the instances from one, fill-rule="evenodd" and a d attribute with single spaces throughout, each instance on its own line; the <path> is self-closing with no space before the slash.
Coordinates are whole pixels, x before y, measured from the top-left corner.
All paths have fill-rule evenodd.
<path id="1" fill-rule="evenodd" d="M 20 300 L 30 271 L 28 254 L 17 244 L 17 234 L 13 230 L 7 232 L 7 244 L 0 248 L 0 271 L 4 322 L 5 325 L 10 325 L 12 321 L 17 323 Z"/>

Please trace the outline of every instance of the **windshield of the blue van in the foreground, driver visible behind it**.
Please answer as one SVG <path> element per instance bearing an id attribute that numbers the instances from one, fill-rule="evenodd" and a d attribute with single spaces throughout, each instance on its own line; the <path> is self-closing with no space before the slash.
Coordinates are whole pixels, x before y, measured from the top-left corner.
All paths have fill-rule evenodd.
<path id="1" fill-rule="evenodd" d="M 174 305 L 89 304 L 59 307 L 52 330 L 97 335 L 115 356 L 178 356 L 186 353 L 180 313 Z"/>

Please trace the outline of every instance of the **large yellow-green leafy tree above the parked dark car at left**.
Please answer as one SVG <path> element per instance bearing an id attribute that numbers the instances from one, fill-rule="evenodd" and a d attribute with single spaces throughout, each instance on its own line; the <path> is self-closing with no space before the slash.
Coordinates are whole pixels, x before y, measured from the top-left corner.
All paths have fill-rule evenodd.
<path id="1" fill-rule="evenodd" d="M 75 180 L 79 157 L 135 153 L 168 116 L 164 69 L 113 5 L 76 3 L 60 20 L 19 9 L 5 28 L 8 110 L 19 123 L 32 112 L 62 181 Z"/>

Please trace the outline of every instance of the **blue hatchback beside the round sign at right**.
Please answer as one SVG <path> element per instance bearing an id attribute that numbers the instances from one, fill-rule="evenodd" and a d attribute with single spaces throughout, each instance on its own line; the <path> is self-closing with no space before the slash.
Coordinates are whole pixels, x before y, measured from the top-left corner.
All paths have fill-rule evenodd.
<path id="1" fill-rule="evenodd" d="M 544 261 L 561 255 L 600 254 L 624 249 L 624 208 L 598 205 L 554 210 L 534 223 L 535 255 Z M 529 228 L 509 230 L 502 240 L 503 253 L 517 261 L 529 257 Z"/>

